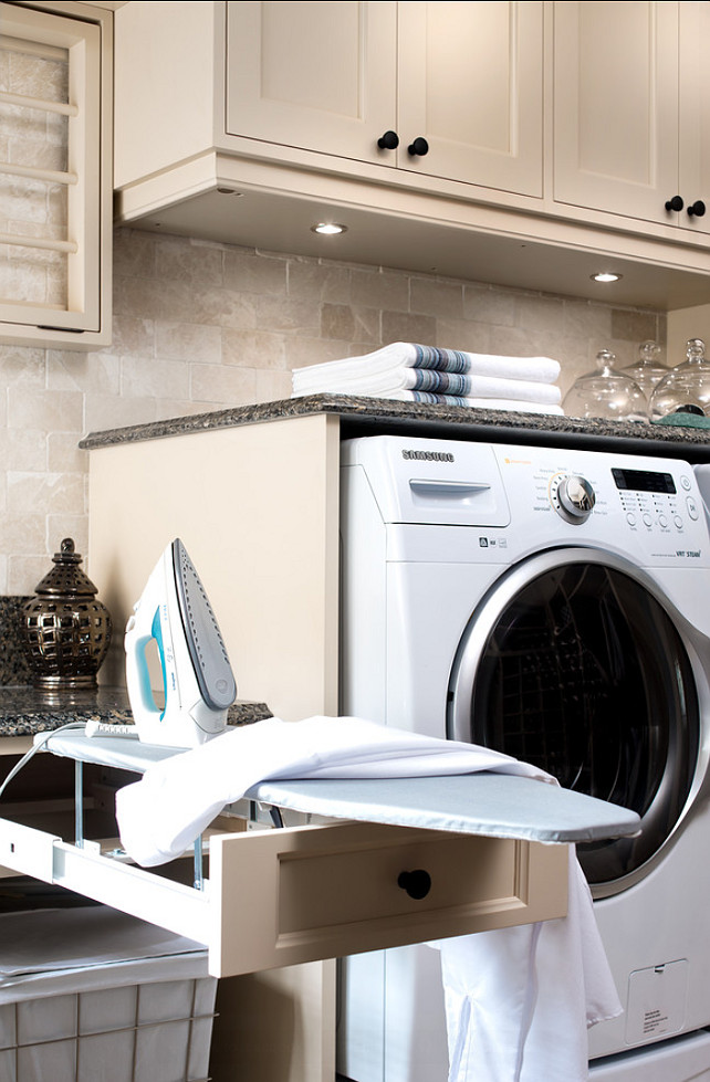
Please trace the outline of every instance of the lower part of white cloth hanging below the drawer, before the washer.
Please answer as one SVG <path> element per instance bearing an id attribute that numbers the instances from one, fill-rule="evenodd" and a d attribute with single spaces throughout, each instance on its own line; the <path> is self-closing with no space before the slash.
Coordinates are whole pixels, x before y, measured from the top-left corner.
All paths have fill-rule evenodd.
<path id="1" fill-rule="evenodd" d="M 567 916 L 441 939 L 449 1082 L 584 1082 L 586 1030 L 622 1004 L 570 847 Z"/>

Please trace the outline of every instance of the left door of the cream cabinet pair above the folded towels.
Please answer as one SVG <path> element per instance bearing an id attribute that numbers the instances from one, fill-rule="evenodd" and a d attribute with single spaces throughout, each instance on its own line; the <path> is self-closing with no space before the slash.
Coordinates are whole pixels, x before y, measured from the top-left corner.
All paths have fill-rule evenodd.
<path id="1" fill-rule="evenodd" d="M 227 134 L 393 165 L 397 4 L 227 4 Z"/>

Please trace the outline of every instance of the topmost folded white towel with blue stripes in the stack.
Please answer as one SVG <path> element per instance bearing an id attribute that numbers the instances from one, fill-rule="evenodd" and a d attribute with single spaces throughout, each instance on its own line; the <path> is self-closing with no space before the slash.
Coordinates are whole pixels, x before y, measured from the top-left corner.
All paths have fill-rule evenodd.
<path id="1" fill-rule="evenodd" d="M 460 349 L 421 346 L 411 342 L 393 342 L 382 349 L 359 357 L 344 357 L 293 370 L 294 389 L 332 377 L 338 379 L 376 376 L 395 368 L 425 368 L 448 372 L 495 376 L 501 379 L 534 380 L 553 384 L 560 376 L 560 363 L 551 357 L 507 357 L 472 354 Z M 323 389 L 323 387 L 321 387 Z"/>

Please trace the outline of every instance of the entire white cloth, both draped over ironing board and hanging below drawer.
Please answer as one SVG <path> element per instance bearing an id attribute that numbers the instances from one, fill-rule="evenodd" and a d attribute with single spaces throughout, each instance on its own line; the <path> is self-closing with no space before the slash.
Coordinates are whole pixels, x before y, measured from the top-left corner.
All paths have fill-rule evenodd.
<path id="1" fill-rule="evenodd" d="M 140 781 L 118 790 L 116 813 L 126 852 L 152 865 L 182 852 L 225 803 L 259 781 L 480 770 L 556 784 L 544 771 L 489 748 L 362 718 L 268 718 L 149 766 Z M 586 1078 L 586 1027 L 619 1013 L 620 1005 L 572 850 L 568 907 L 568 917 L 546 922 L 549 933 L 544 925 L 529 925 L 438 944 L 450 1082 Z M 519 1060 L 528 1073 L 515 1073 Z"/>

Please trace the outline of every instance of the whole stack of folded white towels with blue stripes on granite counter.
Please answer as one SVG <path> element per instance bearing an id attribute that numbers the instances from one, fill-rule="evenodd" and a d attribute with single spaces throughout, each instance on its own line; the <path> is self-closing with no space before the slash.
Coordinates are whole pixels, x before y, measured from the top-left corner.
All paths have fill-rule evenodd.
<path id="1" fill-rule="evenodd" d="M 405 402 L 562 414 L 560 364 L 393 342 L 362 357 L 293 370 L 292 398 L 362 395 Z"/>

